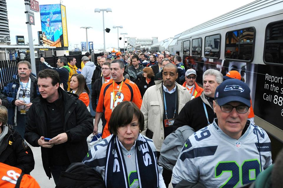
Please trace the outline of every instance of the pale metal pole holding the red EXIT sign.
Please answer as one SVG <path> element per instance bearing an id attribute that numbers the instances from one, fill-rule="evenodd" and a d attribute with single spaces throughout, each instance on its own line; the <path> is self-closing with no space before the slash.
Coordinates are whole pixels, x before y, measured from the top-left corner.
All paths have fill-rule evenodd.
<path id="1" fill-rule="evenodd" d="M 25 0 L 25 6 L 26 6 L 26 11 L 30 11 L 29 0 Z M 36 75 L 36 66 L 35 66 L 34 48 L 33 48 L 33 39 L 32 39 L 32 25 L 29 23 L 27 23 L 27 33 L 29 36 L 29 54 L 30 54 L 30 63 L 32 64 L 32 73 Z"/>

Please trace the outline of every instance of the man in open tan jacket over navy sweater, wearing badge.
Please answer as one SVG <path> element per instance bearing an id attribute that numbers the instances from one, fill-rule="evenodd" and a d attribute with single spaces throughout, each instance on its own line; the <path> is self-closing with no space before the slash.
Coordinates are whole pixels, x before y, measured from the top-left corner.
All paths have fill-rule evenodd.
<path id="1" fill-rule="evenodd" d="M 153 140 L 157 149 L 157 158 L 166 136 L 173 131 L 173 123 L 185 104 L 191 100 L 190 92 L 177 84 L 177 66 L 169 63 L 163 67 L 163 80 L 155 81 L 155 85 L 147 89 L 141 104 L 144 115 L 144 131 L 141 133 Z M 158 159 L 157 159 L 158 160 Z M 166 186 L 171 181 L 172 172 L 163 169 Z"/>

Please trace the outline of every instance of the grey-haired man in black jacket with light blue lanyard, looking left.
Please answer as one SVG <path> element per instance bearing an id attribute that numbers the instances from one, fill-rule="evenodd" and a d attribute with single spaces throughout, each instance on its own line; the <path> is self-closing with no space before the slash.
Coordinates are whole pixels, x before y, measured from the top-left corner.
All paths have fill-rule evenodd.
<path id="1" fill-rule="evenodd" d="M 216 118 L 216 114 L 213 112 L 214 94 L 217 86 L 222 82 L 221 72 L 215 69 L 206 70 L 203 73 L 203 93 L 200 97 L 185 104 L 173 124 L 173 130 L 189 125 L 198 131 L 212 123 Z"/>

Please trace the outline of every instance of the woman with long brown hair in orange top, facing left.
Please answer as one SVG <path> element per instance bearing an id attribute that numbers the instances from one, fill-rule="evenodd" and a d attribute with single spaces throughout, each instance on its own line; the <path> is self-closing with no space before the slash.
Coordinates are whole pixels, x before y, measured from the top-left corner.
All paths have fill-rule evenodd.
<path id="1" fill-rule="evenodd" d="M 89 89 L 85 83 L 85 77 L 82 74 L 73 74 L 70 80 L 70 93 L 75 93 L 83 101 L 85 106 L 89 105 Z M 89 111 L 89 110 L 88 110 Z"/>

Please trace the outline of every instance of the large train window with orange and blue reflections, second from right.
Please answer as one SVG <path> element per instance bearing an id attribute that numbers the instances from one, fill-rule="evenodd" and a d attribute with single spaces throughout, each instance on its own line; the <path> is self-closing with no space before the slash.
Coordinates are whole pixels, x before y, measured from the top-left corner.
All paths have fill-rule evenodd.
<path id="1" fill-rule="evenodd" d="M 254 28 L 226 33 L 225 58 L 251 61 L 254 53 Z"/>

